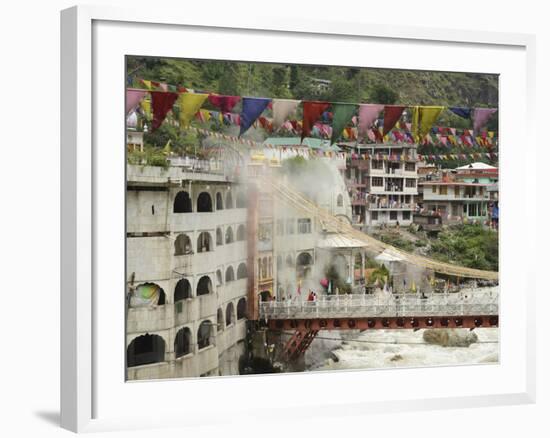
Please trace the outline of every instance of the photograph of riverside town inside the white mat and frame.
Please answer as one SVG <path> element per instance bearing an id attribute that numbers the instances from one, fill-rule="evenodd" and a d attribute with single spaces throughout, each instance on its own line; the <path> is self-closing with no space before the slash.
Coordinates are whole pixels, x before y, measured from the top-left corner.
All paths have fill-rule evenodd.
<path id="1" fill-rule="evenodd" d="M 127 381 L 499 364 L 498 74 L 125 78 Z"/>

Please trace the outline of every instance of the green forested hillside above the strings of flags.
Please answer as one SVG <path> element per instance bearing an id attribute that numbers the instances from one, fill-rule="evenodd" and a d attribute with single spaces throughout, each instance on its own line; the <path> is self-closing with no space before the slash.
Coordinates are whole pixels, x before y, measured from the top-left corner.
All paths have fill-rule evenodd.
<path id="1" fill-rule="evenodd" d="M 141 78 L 220 94 L 406 105 L 497 106 L 498 76 L 128 57 Z M 330 82 L 326 82 L 330 81 Z"/>

